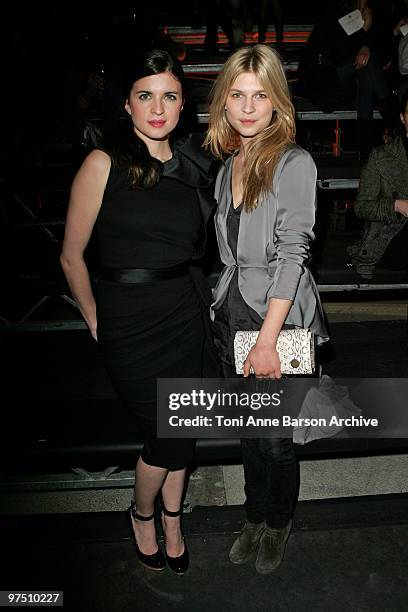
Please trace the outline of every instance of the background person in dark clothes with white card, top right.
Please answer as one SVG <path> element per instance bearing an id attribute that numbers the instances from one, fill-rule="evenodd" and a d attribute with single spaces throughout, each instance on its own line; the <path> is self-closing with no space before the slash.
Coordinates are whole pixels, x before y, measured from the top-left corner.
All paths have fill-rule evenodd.
<path id="1" fill-rule="evenodd" d="M 363 25 L 348 35 L 339 18 L 357 9 Z M 300 61 L 298 93 L 319 108 L 331 112 L 357 94 L 357 144 L 363 158 L 373 144 L 376 106 L 386 127 L 392 132 L 399 129 L 398 103 L 384 73 L 391 47 L 392 41 L 386 44 L 379 34 L 375 9 L 366 0 L 335 0 L 327 3 L 313 27 Z"/>

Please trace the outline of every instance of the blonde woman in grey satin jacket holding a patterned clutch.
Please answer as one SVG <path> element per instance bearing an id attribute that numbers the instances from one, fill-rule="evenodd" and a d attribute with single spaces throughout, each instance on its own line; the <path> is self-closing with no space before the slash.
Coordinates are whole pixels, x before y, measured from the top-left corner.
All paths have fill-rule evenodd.
<path id="1" fill-rule="evenodd" d="M 260 334 L 244 364 L 280 378 L 276 341 L 284 325 L 327 340 L 319 295 L 307 268 L 315 222 L 316 167 L 294 144 L 295 116 L 278 55 L 265 45 L 239 49 L 214 86 L 206 146 L 226 160 L 216 182 L 216 230 L 225 264 L 214 292 L 214 330 L 226 377 L 235 376 L 238 330 Z M 264 381 L 265 383 L 265 381 Z M 241 440 L 247 520 L 230 551 L 256 570 L 281 563 L 297 497 L 291 439 Z"/>

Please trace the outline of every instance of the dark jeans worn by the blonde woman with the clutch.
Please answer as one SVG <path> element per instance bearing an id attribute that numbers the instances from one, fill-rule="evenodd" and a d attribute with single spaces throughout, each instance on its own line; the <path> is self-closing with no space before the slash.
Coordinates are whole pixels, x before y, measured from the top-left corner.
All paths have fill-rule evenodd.
<path id="1" fill-rule="evenodd" d="M 234 368 L 223 363 L 225 378 L 235 378 Z M 267 380 L 262 391 L 267 392 Z M 298 462 L 291 438 L 241 440 L 245 476 L 245 512 L 248 521 L 284 527 L 292 518 L 298 489 Z"/>

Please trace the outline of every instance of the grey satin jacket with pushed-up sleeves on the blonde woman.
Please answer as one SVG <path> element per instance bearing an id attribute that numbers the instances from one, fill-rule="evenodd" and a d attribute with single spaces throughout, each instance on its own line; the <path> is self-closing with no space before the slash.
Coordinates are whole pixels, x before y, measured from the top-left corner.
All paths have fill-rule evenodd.
<path id="1" fill-rule="evenodd" d="M 289 325 L 309 328 L 318 344 L 328 340 L 324 315 L 314 279 L 307 268 L 314 239 L 316 166 L 304 149 L 290 145 L 280 158 L 273 189 L 250 213 L 241 213 L 237 262 L 227 240 L 227 214 L 231 205 L 233 156 L 219 171 L 215 199 L 215 227 L 221 261 L 225 267 L 214 289 L 212 308 L 224 301 L 238 267 L 238 286 L 245 302 L 262 319 L 269 299 L 293 300 L 286 319 Z"/>

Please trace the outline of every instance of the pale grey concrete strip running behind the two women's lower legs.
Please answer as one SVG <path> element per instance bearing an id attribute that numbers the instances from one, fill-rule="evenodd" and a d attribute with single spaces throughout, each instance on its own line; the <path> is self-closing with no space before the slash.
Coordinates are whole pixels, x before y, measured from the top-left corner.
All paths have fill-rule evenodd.
<path id="1" fill-rule="evenodd" d="M 408 492 L 408 455 L 315 459 L 300 462 L 299 500 Z M 52 489 L 43 477 L 42 488 Z M 65 477 L 54 490 L 22 487 L 0 494 L 0 514 L 53 514 L 125 510 L 132 495 L 133 473 L 121 472 L 113 486 L 74 489 Z M 71 475 L 72 480 L 72 475 Z M 57 487 L 58 484 L 58 487 Z M 119 486 L 120 485 L 120 486 Z M 185 511 L 196 506 L 241 505 L 245 501 L 242 465 L 200 466 L 190 477 Z"/>

